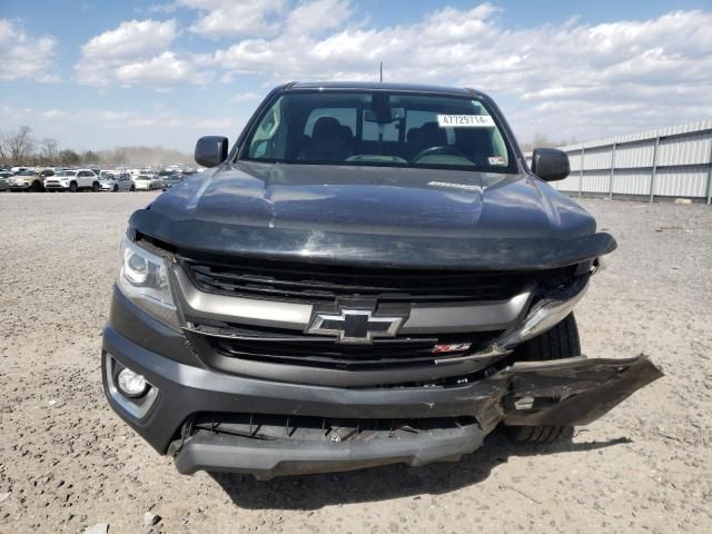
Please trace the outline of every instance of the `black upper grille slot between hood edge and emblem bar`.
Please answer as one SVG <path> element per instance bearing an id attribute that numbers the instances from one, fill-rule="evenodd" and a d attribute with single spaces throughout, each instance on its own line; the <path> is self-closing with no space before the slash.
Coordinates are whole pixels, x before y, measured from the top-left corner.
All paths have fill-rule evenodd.
<path id="1" fill-rule="evenodd" d="M 194 284 L 207 293 L 323 303 L 339 297 L 378 301 L 505 300 L 542 278 L 571 269 L 533 273 L 417 270 L 296 264 L 237 258 L 215 263 L 182 259 Z"/>

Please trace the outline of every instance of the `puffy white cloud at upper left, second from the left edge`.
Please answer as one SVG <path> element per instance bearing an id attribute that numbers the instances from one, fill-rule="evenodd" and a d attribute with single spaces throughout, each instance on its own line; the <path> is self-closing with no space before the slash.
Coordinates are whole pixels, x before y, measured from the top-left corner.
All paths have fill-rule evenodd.
<path id="1" fill-rule="evenodd" d="M 158 90 L 207 83 L 210 72 L 199 70 L 191 56 L 169 50 L 179 34 L 172 19 L 121 22 L 81 47 L 78 81 L 99 88 L 145 85 Z"/>

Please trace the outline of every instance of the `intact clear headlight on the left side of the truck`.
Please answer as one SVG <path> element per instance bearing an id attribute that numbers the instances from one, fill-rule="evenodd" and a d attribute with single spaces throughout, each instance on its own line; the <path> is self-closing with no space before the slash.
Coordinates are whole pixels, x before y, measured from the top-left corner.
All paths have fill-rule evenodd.
<path id="1" fill-rule="evenodd" d="M 180 330 L 166 260 L 131 243 L 126 236 L 121 238 L 117 286 L 144 312 Z"/>

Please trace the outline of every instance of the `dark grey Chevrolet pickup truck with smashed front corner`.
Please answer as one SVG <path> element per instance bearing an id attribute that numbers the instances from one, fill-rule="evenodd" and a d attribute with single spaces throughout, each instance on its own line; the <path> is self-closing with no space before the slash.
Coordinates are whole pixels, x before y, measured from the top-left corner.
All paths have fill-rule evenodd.
<path id="1" fill-rule="evenodd" d="M 101 355 L 180 473 L 419 466 L 501 424 L 550 442 L 662 376 L 581 355 L 615 240 L 482 92 L 290 83 L 195 154 L 210 169 L 129 219 Z"/>

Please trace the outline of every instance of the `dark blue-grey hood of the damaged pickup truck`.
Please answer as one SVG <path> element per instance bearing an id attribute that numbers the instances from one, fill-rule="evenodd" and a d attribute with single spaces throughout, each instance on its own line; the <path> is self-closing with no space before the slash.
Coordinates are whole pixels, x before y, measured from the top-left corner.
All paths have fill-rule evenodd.
<path id="1" fill-rule="evenodd" d="M 412 267 L 547 268 L 615 248 L 526 174 L 359 166 L 226 164 L 136 211 L 130 230 L 198 253 Z"/>

